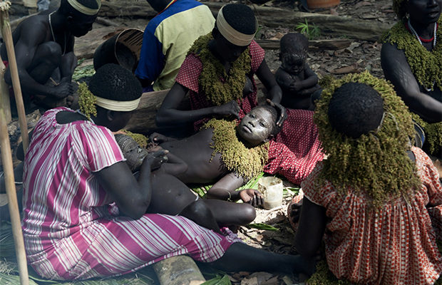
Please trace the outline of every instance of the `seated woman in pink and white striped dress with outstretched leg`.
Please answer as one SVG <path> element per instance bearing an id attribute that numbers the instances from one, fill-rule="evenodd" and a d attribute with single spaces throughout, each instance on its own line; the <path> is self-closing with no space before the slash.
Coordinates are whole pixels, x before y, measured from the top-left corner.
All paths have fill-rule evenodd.
<path id="1" fill-rule="evenodd" d="M 311 271 L 302 257 L 255 249 L 185 217 L 145 214 L 151 170 L 165 152 L 148 155 L 135 179 L 112 133 L 141 92 L 130 71 L 107 64 L 81 85 L 89 95 L 81 112 L 56 108 L 37 123 L 24 160 L 29 265 L 52 280 L 125 274 L 180 254 L 224 271 Z"/>

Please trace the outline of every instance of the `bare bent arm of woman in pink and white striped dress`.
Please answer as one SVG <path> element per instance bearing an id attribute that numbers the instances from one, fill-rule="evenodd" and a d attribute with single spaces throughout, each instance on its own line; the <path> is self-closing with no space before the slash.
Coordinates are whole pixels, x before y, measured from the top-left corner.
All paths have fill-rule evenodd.
<path id="1" fill-rule="evenodd" d="M 139 219 L 150 204 L 152 187 L 150 170 L 164 151 L 149 154 L 143 161 L 138 181 L 133 177 L 126 162 L 117 162 L 110 167 L 96 172 L 96 177 L 103 189 L 113 197 L 120 210 L 132 219 Z"/>

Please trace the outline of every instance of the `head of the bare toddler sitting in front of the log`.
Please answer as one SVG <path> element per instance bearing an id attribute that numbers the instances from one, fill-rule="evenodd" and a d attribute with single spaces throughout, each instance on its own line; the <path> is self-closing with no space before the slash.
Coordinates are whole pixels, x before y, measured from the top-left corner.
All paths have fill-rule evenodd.
<path id="1" fill-rule="evenodd" d="M 309 40 L 302 33 L 287 33 L 280 41 L 279 60 L 285 71 L 298 74 L 304 71 Z"/>

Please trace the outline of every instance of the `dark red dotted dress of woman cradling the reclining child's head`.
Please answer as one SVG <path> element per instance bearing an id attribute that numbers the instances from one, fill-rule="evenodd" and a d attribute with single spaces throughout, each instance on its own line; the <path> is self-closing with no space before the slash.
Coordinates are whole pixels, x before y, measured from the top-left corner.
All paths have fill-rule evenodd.
<path id="1" fill-rule="evenodd" d="M 249 78 L 253 84 L 253 92 L 238 100 L 240 118 L 249 113 L 257 105 L 257 87 L 253 79 L 262 61 L 264 50 L 252 41 L 248 48 L 251 58 L 251 74 Z M 209 108 L 213 103 L 200 89 L 198 78 L 202 72 L 202 63 L 197 55 L 190 53 L 180 68 L 176 82 L 189 88 L 190 107 L 192 110 Z M 224 78 L 220 78 L 224 81 Z M 227 102 L 226 102 L 227 103 Z M 295 184 L 300 184 L 314 169 L 318 161 L 322 160 L 321 144 L 318 139 L 318 130 L 313 123 L 313 112 L 309 110 L 289 110 L 288 118 L 284 122 L 281 133 L 269 145 L 269 162 L 264 172 L 280 174 Z M 195 130 L 200 130 L 208 118 L 195 122 Z"/>

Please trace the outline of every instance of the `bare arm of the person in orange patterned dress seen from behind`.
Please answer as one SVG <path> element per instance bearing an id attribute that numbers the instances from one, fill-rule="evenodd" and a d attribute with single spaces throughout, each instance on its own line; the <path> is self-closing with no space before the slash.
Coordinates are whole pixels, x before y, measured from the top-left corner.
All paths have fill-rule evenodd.
<path id="1" fill-rule="evenodd" d="M 297 234 L 294 238 L 294 246 L 302 257 L 307 259 L 314 257 L 321 245 L 326 222 L 325 208 L 304 197 Z"/>

